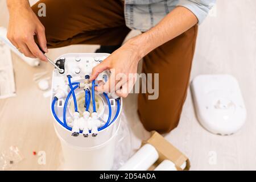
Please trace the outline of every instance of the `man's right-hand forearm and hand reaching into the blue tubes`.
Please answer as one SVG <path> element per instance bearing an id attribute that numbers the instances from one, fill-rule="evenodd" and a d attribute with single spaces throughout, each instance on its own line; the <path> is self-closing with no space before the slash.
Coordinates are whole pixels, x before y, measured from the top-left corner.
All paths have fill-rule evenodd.
<path id="1" fill-rule="evenodd" d="M 156 47 L 189 30 L 197 22 L 196 16 L 190 10 L 181 6 L 176 7 L 155 27 L 130 39 L 93 69 L 90 80 L 94 80 L 105 69 L 112 72 L 108 82 L 95 89 L 99 92 L 116 92 L 119 97 L 127 97 L 137 78 L 130 77 L 129 73 L 137 73 L 139 60 Z M 120 79 L 120 73 L 126 77 Z"/>

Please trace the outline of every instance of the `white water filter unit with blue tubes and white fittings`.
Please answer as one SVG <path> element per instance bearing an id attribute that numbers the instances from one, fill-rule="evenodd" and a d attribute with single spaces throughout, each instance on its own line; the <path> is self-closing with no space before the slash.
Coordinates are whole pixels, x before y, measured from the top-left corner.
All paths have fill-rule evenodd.
<path id="1" fill-rule="evenodd" d="M 108 80 L 109 71 L 89 81 L 92 68 L 108 56 L 69 53 L 56 59 L 64 73 L 53 71 L 51 109 L 65 170 L 112 169 L 122 98 L 94 91 Z"/>

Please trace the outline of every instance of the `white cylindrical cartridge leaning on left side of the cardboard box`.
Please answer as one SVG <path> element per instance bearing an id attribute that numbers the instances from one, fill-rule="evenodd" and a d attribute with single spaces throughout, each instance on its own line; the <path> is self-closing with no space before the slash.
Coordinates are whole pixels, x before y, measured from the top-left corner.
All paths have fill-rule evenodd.
<path id="1" fill-rule="evenodd" d="M 119 171 L 146 171 L 158 160 L 159 155 L 151 144 L 144 144 Z"/>

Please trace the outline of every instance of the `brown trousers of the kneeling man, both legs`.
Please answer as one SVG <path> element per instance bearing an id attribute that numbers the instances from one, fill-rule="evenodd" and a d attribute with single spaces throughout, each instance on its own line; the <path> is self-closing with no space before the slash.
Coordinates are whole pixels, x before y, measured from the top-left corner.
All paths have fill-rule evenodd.
<path id="1" fill-rule="evenodd" d="M 39 17 L 46 28 L 49 48 L 71 44 L 122 44 L 130 29 L 125 25 L 123 2 L 119 0 L 41 0 L 46 17 Z M 38 3 L 32 7 L 38 14 Z M 139 94 L 138 114 L 146 130 L 166 133 L 179 123 L 187 95 L 195 51 L 197 26 L 148 53 L 143 73 L 159 73 L 159 98 L 148 100 Z"/>

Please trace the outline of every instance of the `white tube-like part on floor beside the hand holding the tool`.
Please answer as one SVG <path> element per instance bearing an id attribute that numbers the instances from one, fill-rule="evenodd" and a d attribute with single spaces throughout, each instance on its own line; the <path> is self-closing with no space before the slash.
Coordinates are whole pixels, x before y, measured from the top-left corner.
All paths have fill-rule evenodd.
<path id="1" fill-rule="evenodd" d="M 22 60 L 24 60 L 27 64 L 31 65 L 32 67 L 37 67 L 40 64 L 39 59 L 32 59 L 30 57 L 26 57 L 23 53 L 20 53 L 18 49 L 16 49 L 13 44 L 7 39 L 7 30 L 4 27 L 0 27 L 0 40 L 4 42 L 9 48 L 18 55 Z"/>

